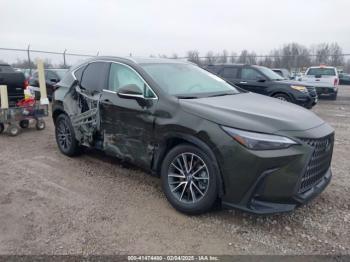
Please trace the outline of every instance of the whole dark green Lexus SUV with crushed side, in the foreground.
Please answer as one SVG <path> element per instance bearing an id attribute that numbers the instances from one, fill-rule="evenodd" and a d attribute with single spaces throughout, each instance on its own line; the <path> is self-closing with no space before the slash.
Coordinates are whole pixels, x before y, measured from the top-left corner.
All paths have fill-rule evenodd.
<path id="1" fill-rule="evenodd" d="M 134 163 L 160 176 L 185 213 L 217 200 L 254 213 L 290 211 L 331 180 L 328 124 L 191 63 L 90 59 L 57 84 L 52 110 L 63 154 L 89 147 Z"/>

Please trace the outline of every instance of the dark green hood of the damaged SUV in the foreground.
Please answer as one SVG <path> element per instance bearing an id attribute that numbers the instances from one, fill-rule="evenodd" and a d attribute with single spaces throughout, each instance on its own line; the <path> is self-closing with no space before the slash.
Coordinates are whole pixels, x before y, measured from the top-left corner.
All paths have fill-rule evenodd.
<path id="1" fill-rule="evenodd" d="M 180 99 L 180 104 L 187 113 L 220 125 L 263 133 L 302 131 L 324 123 L 301 106 L 252 93 Z"/>

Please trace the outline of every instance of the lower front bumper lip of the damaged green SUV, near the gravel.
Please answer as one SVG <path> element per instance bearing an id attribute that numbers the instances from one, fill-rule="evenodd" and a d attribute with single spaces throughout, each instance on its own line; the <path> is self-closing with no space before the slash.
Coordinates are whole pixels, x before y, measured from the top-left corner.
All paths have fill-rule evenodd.
<path id="1" fill-rule="evenodd" d="M 267 215 L 267 214 L 273 214 L 273 213 L 283 213 L 283 212 L 290 212 L 293 209 L 297 208 L 298 206 L 304 205 L 316 196 L 318 196 L 329 184 L 329 182 L 332 179 L 332 171 L 329 168 L 327 173 L 324 175 L 322 180 L 316 184 L 314 187 L 309 189 L 308 191 L 302 193 L 302 194 L 295 194 L 290 199 L 286 199 L 283 203 L 279 202 L 270 202 L 270 201 L 264 201 L 259 200 L 254 197 L 256 195 L 256 190 L 253 190 L 252 192 L 248 192 L 249 195 L 245 196 L 244 199 L 246 201 L 241 202 L 239 204 L 234 204 L 230 202 L 223 201 L 222 206 L 224 208 L 237 208 L 249 213 L 254 214 L 260 214 L 260 215 Z"/>

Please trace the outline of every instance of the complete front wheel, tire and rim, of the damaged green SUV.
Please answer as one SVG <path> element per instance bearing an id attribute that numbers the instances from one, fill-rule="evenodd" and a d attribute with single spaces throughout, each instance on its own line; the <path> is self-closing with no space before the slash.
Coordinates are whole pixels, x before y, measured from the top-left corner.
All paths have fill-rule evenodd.
<path id="1" fill-rule="evenodd" d="M 161 167 L 162 187 L 170 204 L 194 215 L 209 211 L 218 196 L 214 161 L 201 149 L 182 144 L 171 149 Z"/>

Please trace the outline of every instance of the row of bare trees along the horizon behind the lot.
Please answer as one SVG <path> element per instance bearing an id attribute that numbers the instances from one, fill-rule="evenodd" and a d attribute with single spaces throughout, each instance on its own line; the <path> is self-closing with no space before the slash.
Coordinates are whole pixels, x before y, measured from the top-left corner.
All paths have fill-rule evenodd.
<path id="1" fill-rule="evenodd" d="M 293 71 L 302 71 L 312 65 L 330 65 L 341 67 L 345 72 L 350 73 L 350 54 L 344 54 L 338 43 L 320 43 L 311 47 L 306 47 L 298 43 L 288 43 L 281 48 L 271 50 L 267 55 L 259 55 L 255 51 L 242 50 L 240 53 L 223 50 L 220 52 L 208 51 L 204 55 L 198 50 L 189 50 L 185 57 L 180 57 L 176 53 L 167 55 L 150 55 L 150 57 L 163 57 L 187 59 L 199 66 L 208 64 L 255 64 L 270 68 L 287 68 Z M 46 68 L 64 68 L 63 63 L 54 65 L 50 59 L 45 59 Z M 28 63 L 26 59 L 18 59 L 12 66 L 18 68 L 35 68 L 34 63 Z"/>

